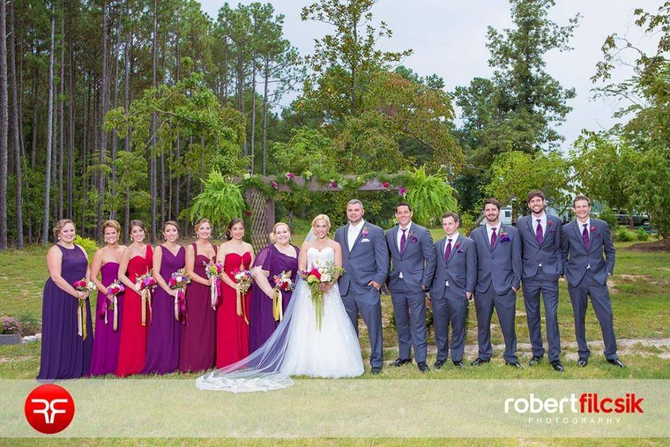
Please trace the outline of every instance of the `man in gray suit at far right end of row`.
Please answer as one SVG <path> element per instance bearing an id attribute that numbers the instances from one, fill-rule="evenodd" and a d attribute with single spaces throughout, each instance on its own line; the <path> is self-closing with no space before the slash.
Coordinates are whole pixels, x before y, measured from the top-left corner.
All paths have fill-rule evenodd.
<path id="1" fill-rule="evenodd" d="M 586 308 L 588 297 L 600 322 L 605 345 L 605 358 L 612 365 L 625 368 L 616 356 L 616 337 L 609 299 L 607 278 L 614 271 L 615 251 L 609 226 L 600 219 L 591 219 L 591 202 L 586 196 L 575 196 L 572 210 L 576 219 L 563 226 L 563 263 L 567 291 L 572 301 L 574 333 L 579 349 L 577 365 L 588 364 L 590 351 L 586 344 Z"/>

